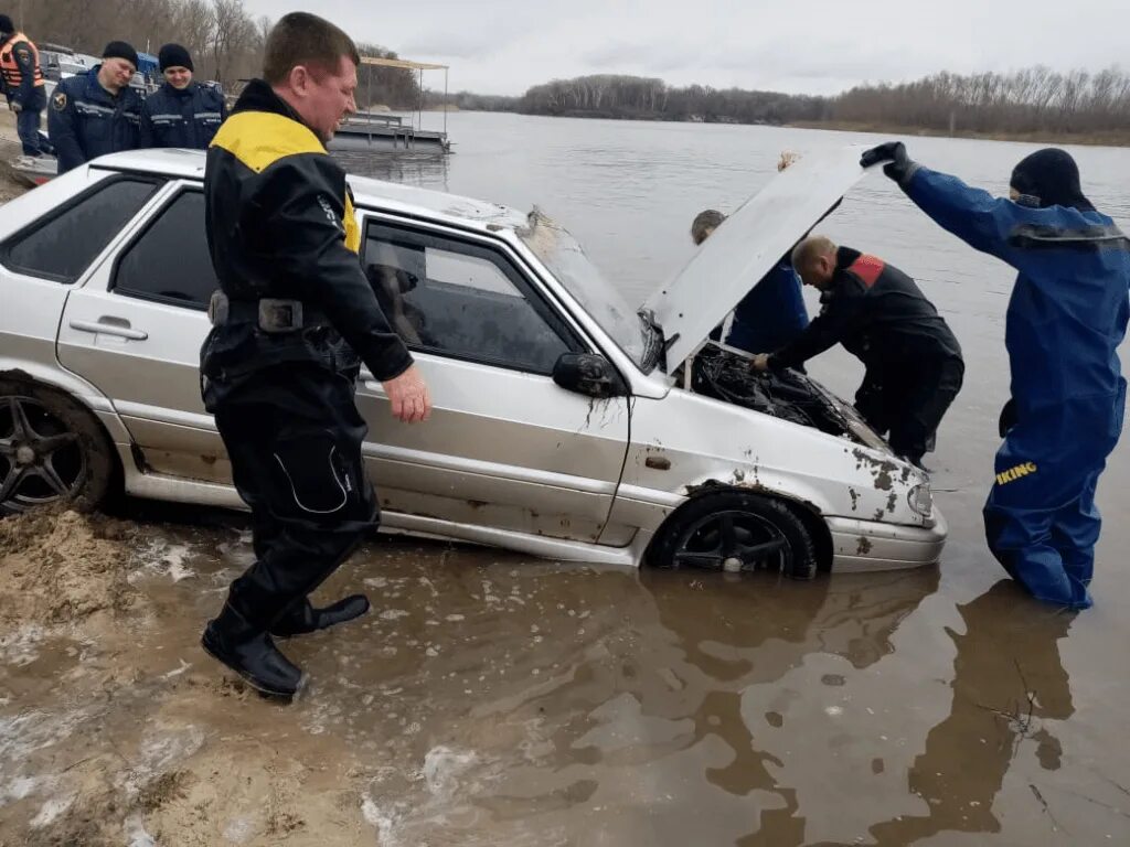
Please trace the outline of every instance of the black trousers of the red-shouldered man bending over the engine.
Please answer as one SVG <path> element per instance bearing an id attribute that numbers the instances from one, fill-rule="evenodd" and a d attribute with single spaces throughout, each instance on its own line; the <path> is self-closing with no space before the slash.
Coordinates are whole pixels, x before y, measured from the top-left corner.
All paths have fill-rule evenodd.
<path id="1" fill-rule="evenodd" d="M 933 449 L 938 425 L 962 390 L 965 365 L 956 357 L 927 358 L 881 370 L 868 368 L 855 409 L 890 448 L 912 462 Z"/>

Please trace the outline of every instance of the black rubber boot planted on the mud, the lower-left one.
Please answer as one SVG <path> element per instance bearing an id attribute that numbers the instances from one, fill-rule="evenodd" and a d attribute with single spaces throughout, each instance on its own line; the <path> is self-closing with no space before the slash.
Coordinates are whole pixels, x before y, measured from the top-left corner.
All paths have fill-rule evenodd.
<path id="1" fill-rule="evenodd" d="M 200 644 L 212 658 L 240 674 L 249 686 L 272 697 L 294 697 L 302 688 L 302 670 L 279 653 L 271 637 L 224 604 L 208 621 Z"/>

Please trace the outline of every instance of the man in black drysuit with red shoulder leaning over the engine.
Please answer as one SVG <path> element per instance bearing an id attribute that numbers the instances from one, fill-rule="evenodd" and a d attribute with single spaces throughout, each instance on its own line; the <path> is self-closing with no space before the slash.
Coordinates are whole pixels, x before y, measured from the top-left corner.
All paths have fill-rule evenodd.
<path id="1" fill-rule="evenodd" d="M 758 370 L 796 367 L 841 343 L 866 366 L 855 408 L 890 448 L 915 465 L 933 449 L 942 416 L 960 391 L 962 348 L 914 280 L 877 256 L 806 238 L 792 253 L 805 285 L 820 290 L 820 314 Z"/>

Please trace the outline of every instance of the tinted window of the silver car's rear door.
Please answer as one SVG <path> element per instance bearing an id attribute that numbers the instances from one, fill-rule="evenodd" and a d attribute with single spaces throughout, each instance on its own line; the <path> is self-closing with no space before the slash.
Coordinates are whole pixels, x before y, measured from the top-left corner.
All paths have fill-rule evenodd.
<path id="1" fill-rule="evenodd" d="M 205 195 L 177 194 L 122 253 L 112 282 L 128 297 L 207 308 L 219 283 L 205 233 Z"/>

